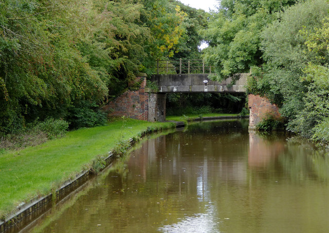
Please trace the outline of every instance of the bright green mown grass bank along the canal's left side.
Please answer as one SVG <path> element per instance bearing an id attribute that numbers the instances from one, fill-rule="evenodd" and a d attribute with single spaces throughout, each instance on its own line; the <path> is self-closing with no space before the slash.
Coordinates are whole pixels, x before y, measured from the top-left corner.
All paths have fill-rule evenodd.
<path id="1" fill-rule="evenodd" d="M 169 128 L 173 124 L 120 119 L 106 126 L 71 131 L 64 138 L 38 146 L 0 153 L 0 217 L 22 201 L 59 187 L 89 168 L 97 156 L 106 156 L 120 140 L 136 137 L 148 127 Z"/>

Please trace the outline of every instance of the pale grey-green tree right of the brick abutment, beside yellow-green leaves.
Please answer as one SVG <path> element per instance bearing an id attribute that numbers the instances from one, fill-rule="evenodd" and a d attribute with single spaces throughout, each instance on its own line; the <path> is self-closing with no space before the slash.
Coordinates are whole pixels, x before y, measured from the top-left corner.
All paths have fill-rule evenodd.
<path id="1" fill-rule="evenodd" d="M 273 22 L 261 34 L 265 63 L 258 73 L 257 85 L 273 103 L 281 107 L 283 116 L 290 119 L 288 129 L 293 131 L 301 132 L 295 128 L 299 121 L 297 115 L 305 111 L 303 99 L 310 87 L 310 80 L 300 77 L 305 77 L 310 71 L 305 71 L 309 63 L 319 63 L 320 55 L 316 50 L 307 49 L 303 31 L 313 33 L 321 26 L 328 9 L 329 4 L 323 0 L 298 3 L 282 12 L 280 20 Z M 309 127 L 313 125 L 314 122 Z M 305 132 L 305 135 L 309 133 Z"/>

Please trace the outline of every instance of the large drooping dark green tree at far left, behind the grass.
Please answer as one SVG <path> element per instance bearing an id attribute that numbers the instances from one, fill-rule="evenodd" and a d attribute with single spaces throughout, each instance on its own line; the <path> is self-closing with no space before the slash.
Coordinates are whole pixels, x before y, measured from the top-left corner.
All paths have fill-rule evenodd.
<path id="1" fill-rule="evenodd" d="M 49 114 L 77 99 L 100 101 L 107 94 L 77 47 L 88 32 L 82 5 L 79 0 L 2 2 L 7 11 L 1 12 L 0 76 L 7 97 L 0 103 L 0 131 L 19 129 L 40 109 Z"/>

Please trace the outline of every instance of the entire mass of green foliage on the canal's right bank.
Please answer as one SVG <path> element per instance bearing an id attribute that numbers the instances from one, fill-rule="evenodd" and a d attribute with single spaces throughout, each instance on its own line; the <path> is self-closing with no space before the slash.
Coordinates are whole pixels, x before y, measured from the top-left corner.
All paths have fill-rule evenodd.
<path id="1" fill-rule="evenodd" d="M 276 103 L 288 130 L 329 142 L 328 11 L 325 0 L 223 0 L 205 58 L 218 79 L 252 68 L 248 93 Z"/>

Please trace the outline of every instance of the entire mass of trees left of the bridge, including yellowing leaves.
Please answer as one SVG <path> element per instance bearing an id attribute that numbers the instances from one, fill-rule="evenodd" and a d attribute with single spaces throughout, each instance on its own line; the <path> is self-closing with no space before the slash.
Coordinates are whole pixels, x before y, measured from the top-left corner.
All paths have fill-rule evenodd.
<path id="1" fill-rule="evenodd" d="M 165 0 L 0 1 L 0 134 L 49 117 L 71 128 L 102 124 L 98 106 L 136 73 L 197 50 L 203 11 L 181 7 Z"/>

